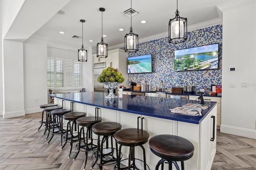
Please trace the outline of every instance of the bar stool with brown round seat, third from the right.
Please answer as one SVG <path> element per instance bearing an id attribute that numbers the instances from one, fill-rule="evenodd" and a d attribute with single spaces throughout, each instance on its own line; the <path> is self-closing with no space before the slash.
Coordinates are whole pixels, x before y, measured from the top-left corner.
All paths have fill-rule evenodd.
<path id="1" fill-rule="evenodd" d="M 103 165 L 111 165 L 117 162 L 118 160 L 118 145 L 116 143 L 116 158 L 114 156 L 114 147 L 113 147 L 113 139 L 114 134 L 122 128 L 122 125 L 117 122 L 100 122 L 96 123 L 92 126 L 92 132 L 98 135 L 98 144 L 97 144 L 97 151 L 92 154 L 92 157 L 95 156 L 96 160 L 92 164 L 91 169 L 94 167 L 95 164 L 99 165 L 100 170 L 102 170 Z M 102 136 L 102 141 L 100 142 L 100 137 Z M 108 149 L 108 138 L 110 137 L 111 140 L 111 151 L 104 154 L 103 149 Z M 103 148 L 103 144 L 106 142 L 106 148 Z M 108 156 L 108 157 L 107 157 Z M 98 158 L 100 157 L 100 163 L 98 162 Z"/>

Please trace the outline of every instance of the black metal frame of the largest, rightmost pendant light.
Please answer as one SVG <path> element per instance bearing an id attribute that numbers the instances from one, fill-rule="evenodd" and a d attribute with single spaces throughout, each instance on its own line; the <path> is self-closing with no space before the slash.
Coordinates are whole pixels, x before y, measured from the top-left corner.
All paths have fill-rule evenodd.
<path id="1" fill-rule="evenodd" d="M 178 0 L 177 0 L 177 10 L 175 12 L 175 18 L 173 19 L 170 19 L 169 21 L 169 29 L 168 29 L 168 33 L 169 33 L 169 43 L 183 43 L 187 40 L 188 38 L 188 34 L 187 34 L 187 30 L 188 30 L 188 27 L 187 27 L 187 18 L 184 18 L 184 17 L 180 17 L 179 15 L 179 11 L 178 11 Z M 172 32 L 172 23 L 173 22 L 176 22 L 178 21 L 179 22 L 179 36 L 176 37 L 176 38 L 172 38 L 171 37 L 171 32 Z M 180 22 L 183 22 L 183 33 L 180 32 Z M 180 37 L 180 34 L 183 34 L 183 37 Z"/>

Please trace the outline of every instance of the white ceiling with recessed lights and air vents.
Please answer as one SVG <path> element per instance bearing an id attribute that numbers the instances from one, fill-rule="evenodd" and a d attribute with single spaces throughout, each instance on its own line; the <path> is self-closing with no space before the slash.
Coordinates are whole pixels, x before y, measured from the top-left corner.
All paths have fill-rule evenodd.
<path id="1" fill-rule="evenodd" d="M 221 20 L 216 6 L 232 1 L 235 0 L 178 0 L 178 11 L 181 17 L 188 18 L 188 27 L 191 27 L 209 20 Z M 86 20 L 84 45 L 92 46 L 94 53 L 102 32 L 100 7 L 106 9 L 103 12 L 103 35 L 107 35 L 104 42 L 108 47 L 124 43 L 124 36 L 130 29 L 130 17 L 123 12 L 130 8 L 130 0 L 70 0 L 61 9 L 64 14 L 55 14 L 34 35 L 78 44 L 77 49 L 80 49 L 82 38 L 72 36 L 82 37 L 80 20 L 83 19 Z M 176 0 L 132 0 L 132 8 L 139 12 L 132 17 L 132 28 L 141 42 L 142 38 L 168 32 L 168 22 L 175 17 Z M 141 20 L 147 23 L 141 24 Z M 119 31 L 120 28 L 124 31 Z"/>

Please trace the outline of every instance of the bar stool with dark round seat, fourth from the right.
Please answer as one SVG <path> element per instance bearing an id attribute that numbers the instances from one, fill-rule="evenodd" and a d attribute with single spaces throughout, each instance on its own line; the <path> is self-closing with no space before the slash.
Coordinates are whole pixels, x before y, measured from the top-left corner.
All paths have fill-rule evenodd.
<path id="1" fill-rule="evenodd" d="M 80 128 L 80 133 L 79 133 L 79 140 L 78 144 L 76 144 L 76 149 L 78 152 L 76 153 L 76 156 L 74 157 L 73 160 L 76 160 L 76 157 L 78 156 L 79 152 L 85 152 L 85 164 L 84 164 L 84 169 L 87 163 L 87 158 L 88 158 L 88 152 L 93 151 L 97 148 L 97 145 L 93 143 L 93 138 L 92 138 L 92 126 L 96 123 L 99 123 L 102 121 L 102 118 L 99 117 L 98 110 L 100 108 L 96 107 L 95 108 L 95 116 L 88 116 L 88 117 L 81 117 L 76 119 L 76 124 L 78 126 L 81 126 Z M 84 128 L 86 127 L 86 137 L 84 134 Z M 82 138 L 83 134 L 83 138 Z M 90 142 L 88 142 L 88 139 L 90 139 Z M 84 144 L 82 144 L 82 142 Z"/>

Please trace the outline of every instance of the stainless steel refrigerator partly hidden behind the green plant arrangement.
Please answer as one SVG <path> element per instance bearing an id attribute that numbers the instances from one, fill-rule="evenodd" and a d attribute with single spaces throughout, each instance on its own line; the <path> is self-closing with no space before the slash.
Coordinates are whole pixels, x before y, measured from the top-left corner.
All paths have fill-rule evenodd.
<path id="1" fill-rule="evenodd" d="M 103 69 L 106 69 L 106 62 L 94 64 L 94 91 L 105 92 L 103 85 L 97 80 Z"/>

